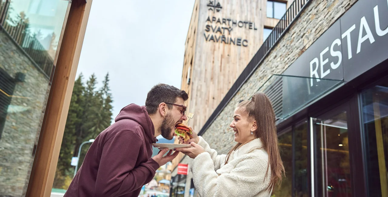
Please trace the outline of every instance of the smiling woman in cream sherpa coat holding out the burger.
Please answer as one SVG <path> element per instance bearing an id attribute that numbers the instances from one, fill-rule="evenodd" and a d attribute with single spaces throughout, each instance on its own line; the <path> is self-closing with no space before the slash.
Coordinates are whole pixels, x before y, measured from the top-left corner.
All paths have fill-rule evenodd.
<path id="1" fill-rule="evenodd" d="M 227 155 L 217 155 L 193 131 L 192 147 L 180 148 L 193 158 L 194 186 L 201 197 L 269 197 L 280 183 L 284 167 L 277 142 L 275 113 L 264 93 L 255 93 L 234 111 L 230 127 L 236 146 Z M 182 138 L 179 137 L 180 143 Z"/>

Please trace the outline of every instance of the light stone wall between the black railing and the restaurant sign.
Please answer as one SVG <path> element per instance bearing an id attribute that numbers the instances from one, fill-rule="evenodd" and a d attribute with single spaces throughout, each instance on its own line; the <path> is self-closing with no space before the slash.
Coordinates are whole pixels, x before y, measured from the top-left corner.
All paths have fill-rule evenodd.
<path id="1" fill-rule="evenodd" d="M 281 74 L 357 0 L 311 0 L 262 64 L 230 100 L 203 134 L 218 154 L 227 154 L 236 144 L 229 124 L 239 100 L 247 100 L 272 76 Z"/>

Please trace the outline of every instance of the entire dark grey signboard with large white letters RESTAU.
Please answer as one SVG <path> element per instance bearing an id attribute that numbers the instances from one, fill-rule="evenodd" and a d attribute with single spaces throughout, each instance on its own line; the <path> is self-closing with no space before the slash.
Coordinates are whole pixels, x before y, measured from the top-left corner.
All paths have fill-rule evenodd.
<path id="1" fill-rule="evenodd" d="M 388 0 L 359 0 L 283 74 L 350 81 L 388 59 Z"/>

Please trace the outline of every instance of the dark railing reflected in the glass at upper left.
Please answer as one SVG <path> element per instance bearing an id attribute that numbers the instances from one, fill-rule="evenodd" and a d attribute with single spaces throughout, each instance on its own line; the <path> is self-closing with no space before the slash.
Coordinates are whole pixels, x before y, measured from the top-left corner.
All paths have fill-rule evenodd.
<path id="1" fill-rule="evenodd" d="M 54 60 L 50 56 L 49 49 L 43 47 L 36 35 L 29 32 L 29 24 L 26 16 L 19 19 L 12 19 L 9 12 L 9 0 L 0 0 L 0 26 L 17 43 L 17 45 L 28 55 L 42 71 L 50 76 Z M 23 13 L 24 14 L 24 13 Z M 54 50 L 52 50 L 54 52 Z"/>

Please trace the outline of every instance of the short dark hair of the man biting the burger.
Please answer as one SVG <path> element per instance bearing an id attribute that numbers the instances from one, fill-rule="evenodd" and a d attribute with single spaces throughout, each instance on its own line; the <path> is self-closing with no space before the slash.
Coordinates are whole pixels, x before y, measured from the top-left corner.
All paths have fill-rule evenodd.
<path id="1" fill-rule="evenodd" d="M 189 99 L 189 95 L 184 90 L 179 90 L 174 86 L 159 83 L 151 88 L 147 93 L 147 99 L 145 100 L 145 107 L 148 114 L 155 114 L 158 111 L 159 104 L 175 103 L 177 98 L 180 97 L 184 101 Z M 172 108 L 172 105 L 167 105 L 168 109 Z"/>

